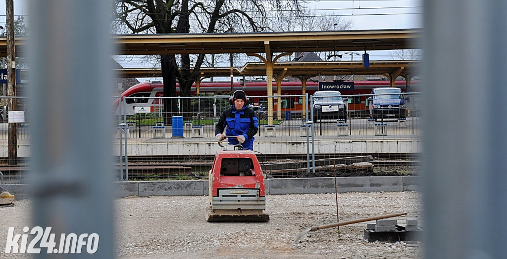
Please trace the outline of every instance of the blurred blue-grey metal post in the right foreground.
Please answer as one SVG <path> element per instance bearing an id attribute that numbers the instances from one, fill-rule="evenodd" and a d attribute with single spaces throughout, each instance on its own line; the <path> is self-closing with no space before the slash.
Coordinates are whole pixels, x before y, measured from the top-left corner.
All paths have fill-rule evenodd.
<path id="1" fill-rule="evenodd" d="M 504 258 L 507 2 L 427 0 L 426 258 Z"/>

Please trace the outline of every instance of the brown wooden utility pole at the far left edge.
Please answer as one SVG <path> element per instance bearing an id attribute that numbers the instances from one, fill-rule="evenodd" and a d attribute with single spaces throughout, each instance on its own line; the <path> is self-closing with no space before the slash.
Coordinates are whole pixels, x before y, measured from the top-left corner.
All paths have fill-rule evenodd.
<path id="1" fill-rule="evenodd" d="M 6 25 L 7 25 L 7 96 L 16 96 L 16 57 L 14 45 L 14 0 L 6 0 Z M 16 98 L 11 98 L 9 110 L 17 110 Z M 18 164 L 18 130 L 17 123 L 9 125 L 9 164 Z"/>

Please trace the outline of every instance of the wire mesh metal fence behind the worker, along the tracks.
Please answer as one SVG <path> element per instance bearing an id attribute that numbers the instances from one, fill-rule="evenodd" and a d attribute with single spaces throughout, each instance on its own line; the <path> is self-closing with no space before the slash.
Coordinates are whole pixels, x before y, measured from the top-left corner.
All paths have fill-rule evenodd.
<path id="1" fill-rule="evenodd" d="M 371 119 L 366 103 L 360 102 L 364 95 L 346 96 L 346 121 L 312 117 L 311 109 L 303 110 L 306 101 L 302 100 L 309 100 L 306 107 L 314 101 L 306 96 L 249 97 L 272 98 L 275 105 L 272 115 L 267 110 L 258 114 L 258 118 L 267 117 L 259 120 L 253 150 L 273 177 L 332 176 L 337 170 L 371 172 L 372 159 L 386 160 L 386 165 L 395 164 L 389 162 L 393 159 L 413 159 L 421 152 L 420 96 L 405 95 L 410 100 L 404 118 L 378 119 Z M 229 98 L 125 98 L 115 117 L 116 150 L 122 154 L 119 177 L 206 177 L 215 152 L 223 149 L 215 140 L 215 123 L 230 107 Z M 282 101 L 289 99 L 294 103 Z M 172 103 L 174 112 L 166 112 L 164 103 Z M 298 104 L 303 108 L 298 109 Z M 135 113 L 141 107 L 144 111 Z M 394 168 L 406 170 L 406 166 Z"/>

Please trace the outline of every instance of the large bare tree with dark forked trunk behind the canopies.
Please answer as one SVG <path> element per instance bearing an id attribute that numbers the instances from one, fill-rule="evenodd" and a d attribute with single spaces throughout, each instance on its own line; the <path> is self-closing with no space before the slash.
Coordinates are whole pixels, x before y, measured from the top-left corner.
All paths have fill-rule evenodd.
<path id="1" fill-rule="evenodd" d="M 248 10 L 248 11 L 243 11 Z M 268 26 L 266 11 L 275 10 L 299 15 L 300 0 L 115 0 L 113 28 L 120 33 L 191 33 L 263 31 Z M 287 11 L 289 10 L 289 11 Z M 280 14 L 279 14 L 280 13 Z M 229 26 L 228 26 L 229 25 Z M 191 72 L 190 55 L 160 55 L 164 96 L 176 96 L 176 80 L 181 96 L 191 96 L 190 89 L 199 75 L 204 54 L 197 55 Z M 178 67 L 180 69 L 178 69 Z M 184 99 L 186 100 L 186 99 Z M 188 111 L 184 101 L 182 111 Z M 166 118 L 177 112 L 177 103 L 164 102 Z"/>

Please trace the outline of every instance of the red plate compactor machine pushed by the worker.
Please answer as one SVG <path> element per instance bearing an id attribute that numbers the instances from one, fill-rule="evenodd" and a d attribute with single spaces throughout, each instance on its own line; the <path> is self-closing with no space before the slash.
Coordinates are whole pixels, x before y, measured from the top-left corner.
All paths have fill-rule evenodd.
<path id="1" fill-rule="evenodd" d="M 267 222 L 264 175 L 253 151 L 218 151 L 209 171 L 207 222 Z"/>

